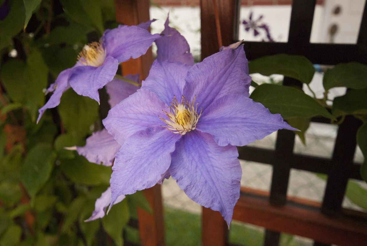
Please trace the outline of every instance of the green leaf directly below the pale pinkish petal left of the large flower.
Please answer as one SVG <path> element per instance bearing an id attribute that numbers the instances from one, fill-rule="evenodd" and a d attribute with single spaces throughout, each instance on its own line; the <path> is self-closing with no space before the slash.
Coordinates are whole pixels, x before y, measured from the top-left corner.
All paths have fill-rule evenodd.
<path id="1" fill-rule="evenodd" d="M 109 184 L 111 167 L 88 162 L 83 156 L 72 160 L 62 160 L 60 168 L 66 177 L 86 185 Z"/>

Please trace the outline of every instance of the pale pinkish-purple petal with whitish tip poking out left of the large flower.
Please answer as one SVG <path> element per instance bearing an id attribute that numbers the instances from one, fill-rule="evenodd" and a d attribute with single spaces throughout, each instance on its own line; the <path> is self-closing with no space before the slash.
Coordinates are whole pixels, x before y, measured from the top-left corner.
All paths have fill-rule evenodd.
<path id="1" fill-rule="evenodd" d="M 76 147 L 79 155 L 84 156 L 89 162 L 112 166 L 117 151 L 121 148 L 116 140 L 106 129 L 94 132 L 87 138 L 83 147 Z"/>

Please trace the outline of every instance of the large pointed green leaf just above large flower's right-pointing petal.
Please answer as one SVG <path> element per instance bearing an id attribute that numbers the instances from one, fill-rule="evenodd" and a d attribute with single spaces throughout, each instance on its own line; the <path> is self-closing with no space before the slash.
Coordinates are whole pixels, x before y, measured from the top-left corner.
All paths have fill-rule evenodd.
<path id="1" fill-rule="evenodd" d="M 260 102 L 271 113 L 280 113 L 284 119 L 289 117 L 324 116 L 335 119 L 323 106 L 303 91 L 288 86 L 262 84 L 250 95 L 255 102 Z"/>

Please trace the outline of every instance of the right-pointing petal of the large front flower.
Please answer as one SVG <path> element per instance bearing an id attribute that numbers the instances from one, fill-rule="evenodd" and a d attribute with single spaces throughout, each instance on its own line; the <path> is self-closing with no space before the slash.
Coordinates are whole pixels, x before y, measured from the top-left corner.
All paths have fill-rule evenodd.
<path id="1" fill-rule="evenodd" d="M 213 135 L 220 146 L 243 146 L 279 129 L 297 130 L 279 114 L 244 95 L 226 95 L 202 113 L 196 129 Z"/>

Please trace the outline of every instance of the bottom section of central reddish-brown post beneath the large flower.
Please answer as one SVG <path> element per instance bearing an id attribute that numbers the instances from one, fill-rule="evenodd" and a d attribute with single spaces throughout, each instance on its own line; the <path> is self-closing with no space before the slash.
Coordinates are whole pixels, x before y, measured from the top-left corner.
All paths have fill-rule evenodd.
<path id="1" fill-rule="evenodd" d="M 202 218 L 202 245 L 225 246 L 228 236 L 228 226 L 218 211 L 203 207 Z"/>

